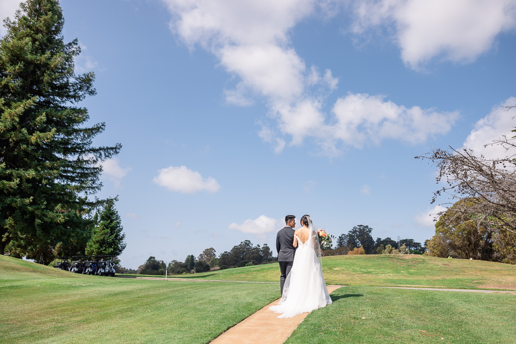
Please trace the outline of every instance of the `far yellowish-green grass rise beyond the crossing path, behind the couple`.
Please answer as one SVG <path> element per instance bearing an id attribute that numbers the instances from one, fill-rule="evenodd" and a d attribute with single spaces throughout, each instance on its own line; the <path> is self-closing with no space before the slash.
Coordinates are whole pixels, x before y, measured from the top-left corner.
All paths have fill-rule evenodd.
<path id="1" fill-rule="evenodd" d="M 170 277 L 278 282 L 279 271 L 278 264 L 268 264 Z M 516 266 L 482 260 L 412 254 L 332 256 L 323 259 L 322 271 L 327 284 L 516 290 Z"/>

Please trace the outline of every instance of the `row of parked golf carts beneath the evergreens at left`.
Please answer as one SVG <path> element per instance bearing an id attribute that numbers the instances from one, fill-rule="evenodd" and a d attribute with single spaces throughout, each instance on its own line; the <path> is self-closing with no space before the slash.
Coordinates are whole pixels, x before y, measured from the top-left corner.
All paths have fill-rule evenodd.
<path id="1" fill-rule="evenodd" d="M 54 268 L 86 275 L 115 276 L 114 256 L 57 257 Z"/>

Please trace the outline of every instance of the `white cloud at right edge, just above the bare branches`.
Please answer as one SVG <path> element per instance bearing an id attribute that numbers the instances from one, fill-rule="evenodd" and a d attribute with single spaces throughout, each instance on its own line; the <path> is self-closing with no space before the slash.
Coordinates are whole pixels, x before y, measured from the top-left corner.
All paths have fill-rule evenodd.
<path id="1" fill-rule="evenodd" d="M 514 116 L 516 111 L 505 110 L 502 106 L 516 105 L 516 97 L 510 97 L 501 105 L 496 105 L 484 118 L 475 123 L 475 128 L 464 141 L 464 148 L 473 150 L 476 154 L 483 154 L 489 159 L 503 158 L 507 156 L 505 149 L 500 145 L 485 144 L 499 139 L 503 135 L 513 136 L 511 130 L 516 126 Z"/>

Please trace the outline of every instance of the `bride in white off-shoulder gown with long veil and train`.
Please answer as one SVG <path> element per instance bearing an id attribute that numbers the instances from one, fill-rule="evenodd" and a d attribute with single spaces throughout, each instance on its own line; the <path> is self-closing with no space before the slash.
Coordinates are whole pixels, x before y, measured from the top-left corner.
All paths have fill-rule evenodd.
<path id="1" fill-rule="evenodd" d="M 322 276 L 319 240 L 310 216 L 304 215 L 301 225 L 303 227 L 294 233 L 296 255 L 285 279 L 283 296 L 278 305 L 269 307 L 281 314 L 278 318 L 291 318 L 332 303 Z"/>

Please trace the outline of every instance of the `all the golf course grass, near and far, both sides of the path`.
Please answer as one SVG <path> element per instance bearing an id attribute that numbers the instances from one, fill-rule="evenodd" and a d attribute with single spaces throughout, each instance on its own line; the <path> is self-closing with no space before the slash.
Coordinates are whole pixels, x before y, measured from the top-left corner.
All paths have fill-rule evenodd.
<path id="1" fill-rule="evenodd" d="M 329 284 L 352 286 L 334 291 L 334 303 L 312 312 L 288 343 L 514 342 L 516 292 L 372 287 L 516 290 L 514 266 L 412 255 L 326 257 L 323 264 Z M 277 282 L 279 268 L 172 279 L 178 277 Z M 0 256 L 0 342 L 207 343 L 277 299 L 278 289 L 278 284 L 87 276 Z"/>

